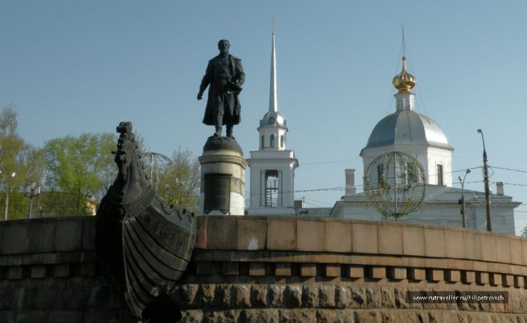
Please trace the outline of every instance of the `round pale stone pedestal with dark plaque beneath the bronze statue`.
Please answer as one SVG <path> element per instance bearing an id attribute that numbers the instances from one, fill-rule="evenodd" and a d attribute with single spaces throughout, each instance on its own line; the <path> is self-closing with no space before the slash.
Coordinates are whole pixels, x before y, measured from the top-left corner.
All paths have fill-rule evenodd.
<path id="1" fill-rule="evenodd" d="M 244 215 L 244 153 L 236 140 L 211 136 L 199 157 L 201 215 Z"/>

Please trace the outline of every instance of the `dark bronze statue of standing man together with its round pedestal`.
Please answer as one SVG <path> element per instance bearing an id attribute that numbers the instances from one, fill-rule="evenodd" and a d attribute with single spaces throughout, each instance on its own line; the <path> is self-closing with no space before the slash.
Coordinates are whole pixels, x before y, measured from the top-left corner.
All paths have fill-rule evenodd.
<path id="1" fill-rule="evenodd" d="M 240 123 L 239 93 L 245 81 L 241 59 L 229 54 L 230 43 L 218 42 L 219 55 L 207 65 L 199 86 L 198 100 L 209 87 L 203 123 L 215 132 L 204 145 L 201 163 L 200 213 L 202 215 L 244 215 L 244 153 L 233 136 Z M 226 125 L 226 137 L 221 136 Z"/>

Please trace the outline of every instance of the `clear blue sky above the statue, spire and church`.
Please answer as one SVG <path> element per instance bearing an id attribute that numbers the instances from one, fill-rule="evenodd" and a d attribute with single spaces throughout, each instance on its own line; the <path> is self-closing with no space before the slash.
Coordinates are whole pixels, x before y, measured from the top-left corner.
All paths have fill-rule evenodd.
<path id="1" fill-rule="evenodd" d="M 443 128 L 453 170 L 482 164 L 482 128 L 491 181 L 526 203 L 526 16 L 526 1 L 4 0 L 0 106 L 17 106 L 19 133 L 36 146 L 132 121 L 150 150 L 199 155 L 213 128 L 201 123 L 196 93 L 226 38 L 246 72 L 234 135 L 248 158 L 268 109 L 274 18 L 278 110 L 300 163 L 296 198 L 331 207 L 344 169 L 356 168 L 360 182 L 358 153 L 395 111 L 404 24 L 416 111 Z M 473 171 L 466 188 L 483 190 L 482 179 Z M 338 189 L 320 190 L 328 188 Z M 517 231 L 525 225 L 523 204 Z"/>

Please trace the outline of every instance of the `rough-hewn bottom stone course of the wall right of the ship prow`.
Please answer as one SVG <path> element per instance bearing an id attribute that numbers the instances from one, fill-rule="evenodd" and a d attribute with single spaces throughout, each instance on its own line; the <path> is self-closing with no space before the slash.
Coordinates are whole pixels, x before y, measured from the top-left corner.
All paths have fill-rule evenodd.
<path id="1" fill-rule="evenodd" d="M 508 292 L 508 304 L 409 303 L 406 292 L 411 290 L 416 289 L 328 284 L 183 284 L 174 290 L 174 297 L 184 305 L 188 322 L 524 322 L 527 318 L 527 295 L 518 290 Z M 252 320 L 244 320 L 249 318 Z"/>

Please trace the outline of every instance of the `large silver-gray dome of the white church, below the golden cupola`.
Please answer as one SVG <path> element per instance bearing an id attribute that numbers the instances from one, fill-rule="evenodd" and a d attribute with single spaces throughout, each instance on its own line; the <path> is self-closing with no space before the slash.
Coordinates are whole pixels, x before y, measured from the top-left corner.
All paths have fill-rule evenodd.
<path id="1" fill-rule="evenodd" d="M 379 121 L 364 149 L 386 145 L 431 145 L 452 149 L 435 121 L 411 110 L 397 111 Z"/>

